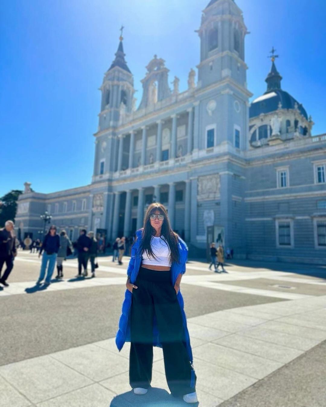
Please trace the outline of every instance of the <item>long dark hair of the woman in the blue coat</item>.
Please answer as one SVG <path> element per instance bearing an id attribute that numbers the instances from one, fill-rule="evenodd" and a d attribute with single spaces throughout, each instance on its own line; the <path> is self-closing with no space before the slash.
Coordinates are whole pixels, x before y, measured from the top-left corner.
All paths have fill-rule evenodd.
<path id="1" fill-rule="evenodd" d="M 154 202 L 150 204 L 147 208 L 145 217 L 144 217 L 144 227 L 142 230 L 142 241 L 140 245 L 140 252 L 143 254 L 147 252 L 147 256 L 155 258 L 153 250 L 151 248 L 151 239 L 156 234 L 156 230 L 151 225 L 151 220 L 149 217 L 151 214 L 155 213 L 156 211 L 160 212 L 160 214 L 164 215 L 164 221 L 162 223 L 161 229 L 161 236 L 163 236 L 167 243 L 168 247 L 170 248 L 170 260 L 171 262 L 175 261 L 179 263 L 179 239 L 177 233 L 173 232 L 171 229 L 170 221 L 168 220 L 168 213 L 164 206 L 158 202 Z"/>

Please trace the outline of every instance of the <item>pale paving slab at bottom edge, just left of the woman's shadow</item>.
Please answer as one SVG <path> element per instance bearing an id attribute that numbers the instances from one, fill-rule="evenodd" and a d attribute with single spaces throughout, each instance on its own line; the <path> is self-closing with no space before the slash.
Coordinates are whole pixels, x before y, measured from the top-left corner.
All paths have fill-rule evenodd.
<path id="1" fill-rule="evenodd" d="M 63 394 L 37 404 L 37 407 L 109 407 L 116 396 L 103 386 L 94 383 L 82 389 Z"/>

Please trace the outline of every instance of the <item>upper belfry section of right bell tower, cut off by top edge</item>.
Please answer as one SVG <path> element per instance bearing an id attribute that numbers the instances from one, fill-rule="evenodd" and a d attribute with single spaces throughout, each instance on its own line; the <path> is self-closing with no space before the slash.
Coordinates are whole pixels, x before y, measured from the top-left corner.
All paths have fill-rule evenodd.
<path id="1" fill-rule="evenodd" d="M 201 86 L 231 77 L 245 86 L 245 35 L 247 27 L 234 0 L 211 0 L 203 10 L 198 79 Z"/>

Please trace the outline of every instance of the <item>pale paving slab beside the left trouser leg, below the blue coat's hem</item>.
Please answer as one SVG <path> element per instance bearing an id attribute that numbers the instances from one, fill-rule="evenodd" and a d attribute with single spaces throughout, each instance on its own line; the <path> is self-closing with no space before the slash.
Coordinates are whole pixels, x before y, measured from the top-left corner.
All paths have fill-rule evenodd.
<path id="1" fill-rule="evenodd" d="M 129 370 L 129 361 L 125 357 L 93 344 L 55 352 L 51 357 L 94 381 Z"/>

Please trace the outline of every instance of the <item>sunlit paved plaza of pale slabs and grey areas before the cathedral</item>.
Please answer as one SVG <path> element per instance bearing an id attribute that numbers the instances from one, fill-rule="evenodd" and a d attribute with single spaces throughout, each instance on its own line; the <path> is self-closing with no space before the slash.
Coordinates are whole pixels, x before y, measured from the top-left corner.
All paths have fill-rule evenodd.
<path id="1" fill-rule="evenodd" d="M 129 258 L 98 259 L 96 278 L 35 287 L 37 254 L 18 252 L 0 291 L 0 406 L 186 406 L 171 398 L 162 350 L 152 388 L 129 386 L 129 344 L 114 337 Z M 182 278 L 201 407 L 324 407 L 326 267 L 231 261 L 228 273 L 190 260 Z M 55 276 L 55 274 L 54 274 Z"/>

